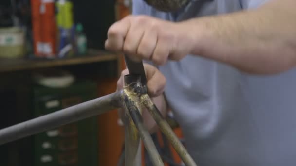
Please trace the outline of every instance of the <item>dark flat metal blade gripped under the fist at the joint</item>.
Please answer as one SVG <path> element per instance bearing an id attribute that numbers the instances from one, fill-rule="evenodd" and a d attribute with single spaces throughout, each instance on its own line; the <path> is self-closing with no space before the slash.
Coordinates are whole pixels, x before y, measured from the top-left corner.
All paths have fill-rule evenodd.
<path id="1" fill-rule="evenodd" d="M 147 78 L 143 66 L 143 62 L 135 62 L 131 60 L 127 55 L 124 55 L 126 66 L 128 67 L 129 74 L 140 75 L 142 86 L 147 85 Z"/>

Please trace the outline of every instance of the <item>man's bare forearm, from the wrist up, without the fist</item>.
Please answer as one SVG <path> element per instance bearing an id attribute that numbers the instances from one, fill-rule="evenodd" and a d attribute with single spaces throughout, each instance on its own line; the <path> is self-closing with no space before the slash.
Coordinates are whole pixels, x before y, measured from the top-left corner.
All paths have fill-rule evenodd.
<path id="1" fill-rule="evenodd" d="M 191 53 L 249 73 L 288 70 L 296 66 L 295 6 L 296 0 L 272 0 L 252 11 L 185 21 L 196 27 Z"/>

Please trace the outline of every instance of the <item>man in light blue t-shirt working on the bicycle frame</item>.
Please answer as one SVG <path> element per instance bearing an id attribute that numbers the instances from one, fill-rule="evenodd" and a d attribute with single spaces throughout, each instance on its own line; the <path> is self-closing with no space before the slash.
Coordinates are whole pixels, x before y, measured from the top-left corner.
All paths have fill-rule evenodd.
<path id="1" fill-rule="evenodd" d="M 148 16 L 112 25 L 106 48 L 154 63 L 148 92 L 197 164 L 296 166 L 296 1 L 195 0 L 167 13 L 133 3 Z"/>

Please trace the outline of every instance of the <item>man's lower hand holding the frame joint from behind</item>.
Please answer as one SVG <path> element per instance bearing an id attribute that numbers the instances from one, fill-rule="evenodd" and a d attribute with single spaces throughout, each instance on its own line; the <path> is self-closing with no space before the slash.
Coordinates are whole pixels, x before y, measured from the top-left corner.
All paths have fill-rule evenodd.
<path id="1" fill-rule="evenodd" d="M 147 88 L 148 88 L 148 94 L 153 97 L 152 100 L 157 106 L 157 108 L 160 110 L 163 116 L 166 115 L 166 101 L 163 95 L 164 88 L 166 85 L 166 78 L 164 75 L 154 66 L 144 64 L 144 69 L 147 77 Z M 124 85 L 124 76 L 129 74 L 129 71 L 127 69 L 123 70 L 121 73 L 121 77 L 117 81 L 117 90 L 121 90 Z M 120 116 L 122 116 L 122 110 L 119 110 Z M 156 123 L 153 120 L 152 116 L 148 113 L 147 110 L 144 110 L 142 113 L 144 124 L 147 127 L 148 131 L 150 133 L 153 133 L 156 131 Z"/>

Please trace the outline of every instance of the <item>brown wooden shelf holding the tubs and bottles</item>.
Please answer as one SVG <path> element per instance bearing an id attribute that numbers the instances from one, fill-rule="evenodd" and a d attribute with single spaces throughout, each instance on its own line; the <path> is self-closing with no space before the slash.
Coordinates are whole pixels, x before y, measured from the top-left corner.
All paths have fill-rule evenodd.
<path id="1" fill-rule="evenodd" d="M 0 73 L 113 60 L 118 60 L 118 55 L 107 51 L 91 51 L 91 53 L 86 56 L 63 59 L 0 59 Z"/>

